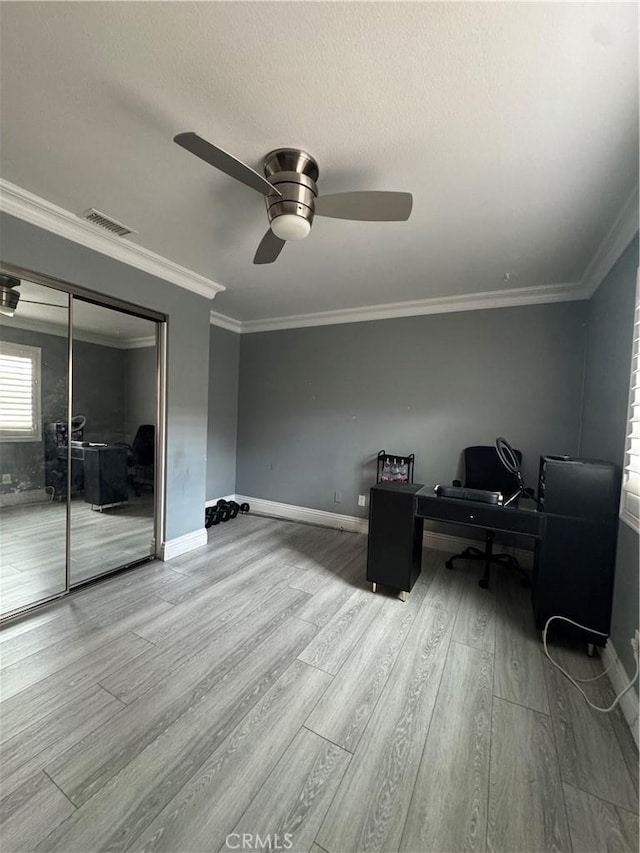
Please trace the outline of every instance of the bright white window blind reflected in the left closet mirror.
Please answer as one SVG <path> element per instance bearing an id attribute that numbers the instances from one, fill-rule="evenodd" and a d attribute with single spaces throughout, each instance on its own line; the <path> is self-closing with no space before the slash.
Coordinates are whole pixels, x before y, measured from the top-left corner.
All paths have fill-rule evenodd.
<path id="1" fill-rule="evenodd" d="M 0 440 L 40 441 L 40 348 L 0 343 Z"/>

